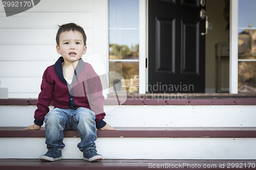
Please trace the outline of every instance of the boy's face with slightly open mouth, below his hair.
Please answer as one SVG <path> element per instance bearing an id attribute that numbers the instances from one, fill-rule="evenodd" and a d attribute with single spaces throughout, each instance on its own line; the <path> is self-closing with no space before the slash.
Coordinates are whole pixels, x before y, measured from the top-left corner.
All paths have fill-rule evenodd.
<path id="1" fill-rule="evenodd" d="M 66 31 L 59 35 L 57 53 L 61 54 L 65 62 L 75 62 L 86 54 L 87 46 L 83 44 L 83 36 L 77 31 Z"/>

